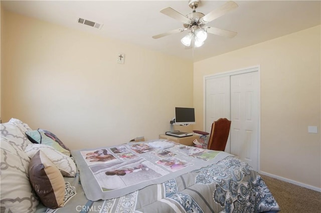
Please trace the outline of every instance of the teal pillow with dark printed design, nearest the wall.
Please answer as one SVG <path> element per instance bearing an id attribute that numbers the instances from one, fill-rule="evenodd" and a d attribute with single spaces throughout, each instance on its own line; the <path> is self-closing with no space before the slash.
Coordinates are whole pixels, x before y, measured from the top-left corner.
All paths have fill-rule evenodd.
<path id="1" fill-rule="evenodd" d="M 32 130 L 32 131 L 26 131 L 27 137 L 30 139 L 33 143 L 42 143 L 46 145 L 50 145 L 60 151 L 61 153 L 64 153 L 68 156 L 70 156 L 70 151 L 61 147 L 59 143 L 55 140 L 53 140 L 51 137 L 47 136 L 44 131 L 41 130 Z"/>

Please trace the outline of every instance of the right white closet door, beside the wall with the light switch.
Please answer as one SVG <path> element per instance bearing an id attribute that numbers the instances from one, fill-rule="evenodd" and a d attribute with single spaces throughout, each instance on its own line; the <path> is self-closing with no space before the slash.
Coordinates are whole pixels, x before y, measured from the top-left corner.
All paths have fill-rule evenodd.
<path id="1" fill-rule="evenodd" d="M 231 153 L 258 169 L 258 72 L 231 75 Z"/>

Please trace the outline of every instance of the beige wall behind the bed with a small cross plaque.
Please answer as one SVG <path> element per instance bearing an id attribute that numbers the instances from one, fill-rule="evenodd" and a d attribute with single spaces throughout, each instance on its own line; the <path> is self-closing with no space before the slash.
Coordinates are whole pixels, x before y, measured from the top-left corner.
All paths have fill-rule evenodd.
<path id="1" fill-rule="evenodd" d="M 76 149 L 156 139 L 171 129 L 175 106 L 193 106 L 190 61 L 9 11 L 5 17 L 4 122 L 19 118 Z"/>

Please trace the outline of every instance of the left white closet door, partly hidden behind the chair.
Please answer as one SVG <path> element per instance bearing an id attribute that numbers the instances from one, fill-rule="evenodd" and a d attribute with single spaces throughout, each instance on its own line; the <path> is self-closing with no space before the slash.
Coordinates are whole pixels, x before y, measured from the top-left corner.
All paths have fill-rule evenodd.
<path id="1" fill-rule="evenodd" d="M 230 119 L 230 76 L 206 79 L 205 131 L 211 132 L 212 123 L 220 117 Z M 230 152 L 230 142 L 225 150 Z"/>

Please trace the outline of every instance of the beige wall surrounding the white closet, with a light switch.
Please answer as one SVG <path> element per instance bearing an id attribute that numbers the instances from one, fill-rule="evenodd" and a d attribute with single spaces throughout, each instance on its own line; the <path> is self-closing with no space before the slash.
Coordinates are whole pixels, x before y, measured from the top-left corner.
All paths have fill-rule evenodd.
<path id="1" fill-rule="evenodd" d="M 203 129 L 204 76 L 254 65 L 261 67 L 261 171 L 320 189 L 320 26 L 194 63 L 196 128 Z"/>

